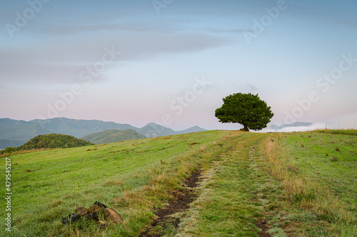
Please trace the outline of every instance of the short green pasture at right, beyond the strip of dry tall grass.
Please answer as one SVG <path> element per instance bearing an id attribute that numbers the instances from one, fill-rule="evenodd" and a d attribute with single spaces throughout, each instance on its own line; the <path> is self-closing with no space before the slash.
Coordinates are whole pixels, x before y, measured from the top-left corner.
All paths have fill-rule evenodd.
<path id="1" fill-rule="evenodd" d="M 300 168 L 301 175 L 331 189 L 334 196 L 356 208 L 357 137 L 348 135 L 311 132 L 291 135 L 284 142 L 287 152 L 295 158 L 291 163 Z"/>

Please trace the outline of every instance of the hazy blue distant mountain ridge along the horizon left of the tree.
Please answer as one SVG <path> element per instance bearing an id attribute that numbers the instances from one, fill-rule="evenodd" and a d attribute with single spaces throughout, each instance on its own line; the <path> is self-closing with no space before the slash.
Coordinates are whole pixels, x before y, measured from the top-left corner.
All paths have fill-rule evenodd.
<path id="1" fill-rule="evenodd" d="M 96 132 L 105 130 L 127 130 L 131 129 L 139 132 L 145 137 L 162 137 L 169 135 L 178 135 L 189 132 L 206 131 L 201 127 L 191 127 L 188 130 L 174 131 L 168 127 L 149 123 L 144 127 L 134 127 L 128 124 L 119 124 L 116 122 L 104 122 L 101 120 L 74 120 L 66 117 L 56 117 L 47 120 L 11 120 L 9 118 L 0 119 L 0 139 L 6 142 L 0 143 L 0 149 L 14 144 L 14 141 L 29 141 L 29 139 L 38 135 L 51 133 L 71 135 L 77 138 L 85 137 Z M 19 142 L 16 143 L 17 145 Z"/>

